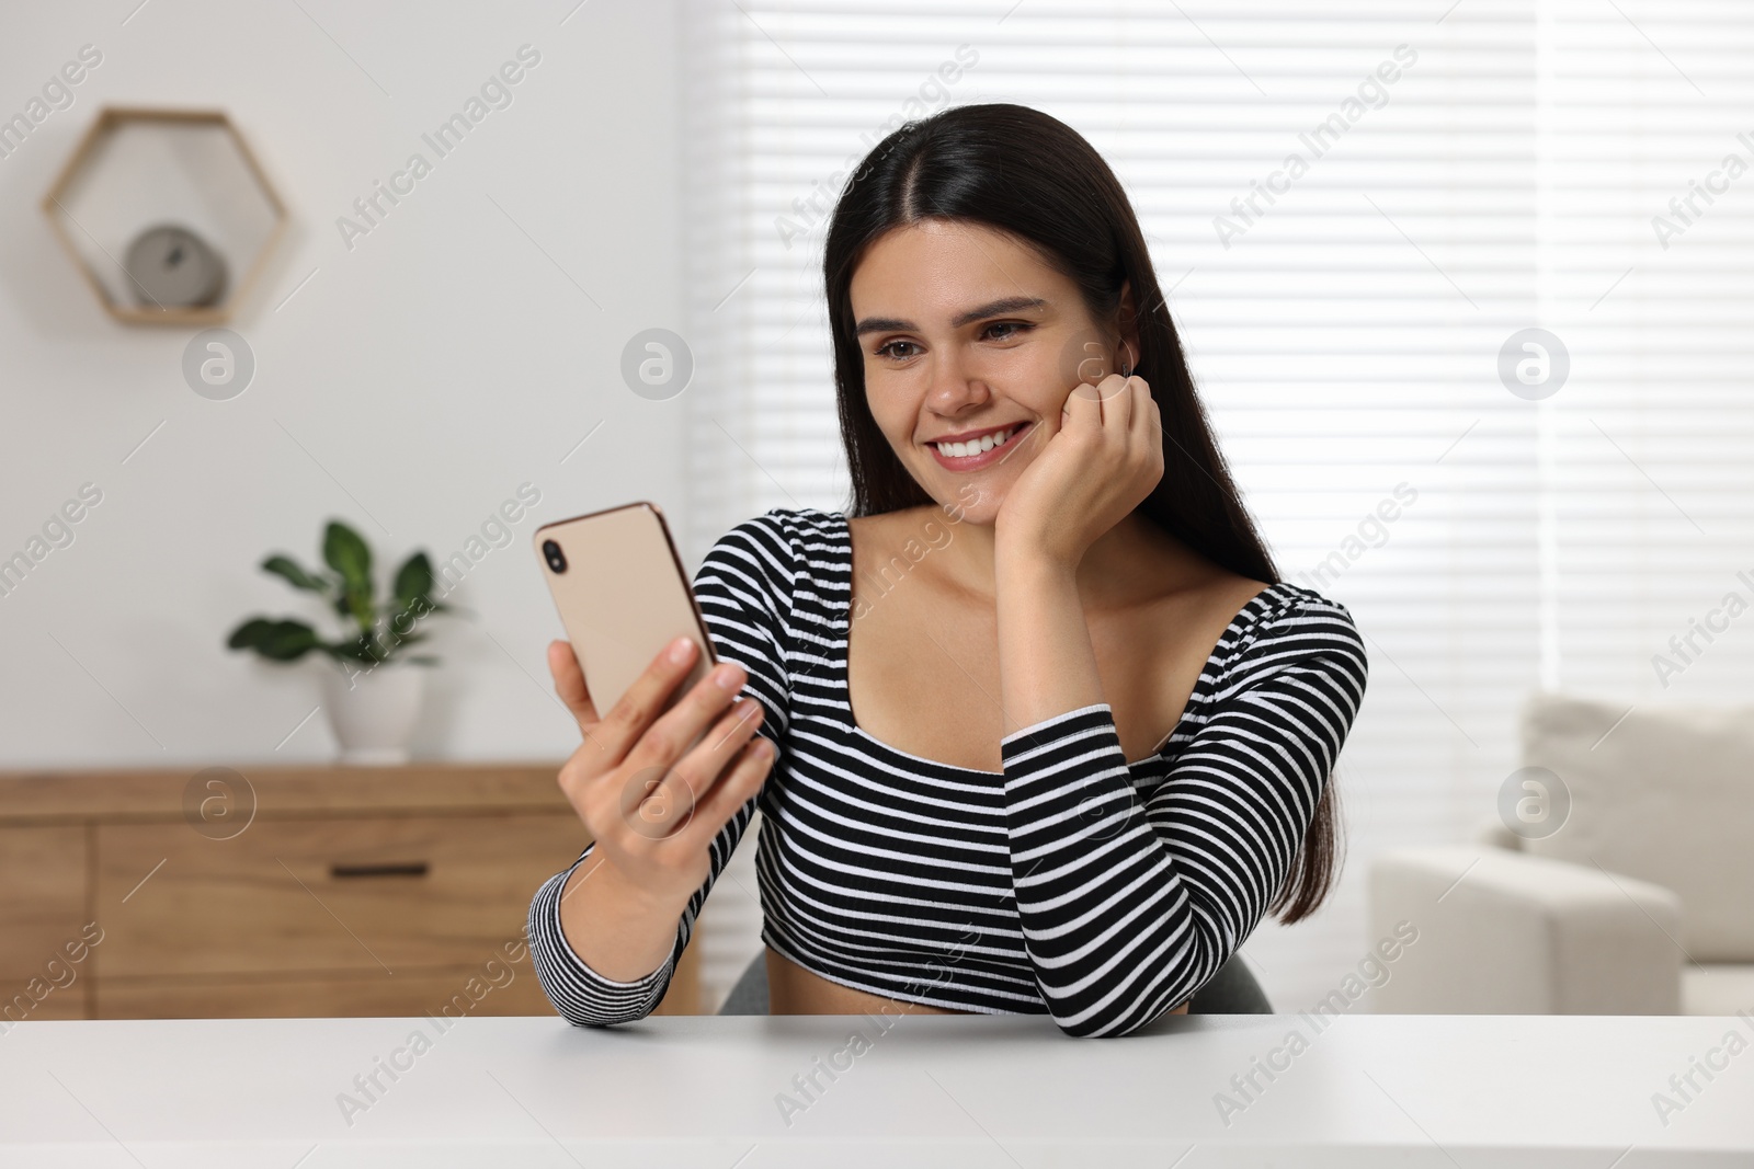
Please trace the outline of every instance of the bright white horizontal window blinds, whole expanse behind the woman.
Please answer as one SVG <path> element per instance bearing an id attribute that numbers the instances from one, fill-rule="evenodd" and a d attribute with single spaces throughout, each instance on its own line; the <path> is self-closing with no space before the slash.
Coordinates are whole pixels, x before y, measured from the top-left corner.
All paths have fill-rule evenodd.
<path id="1" fill-rule="evenodd" d="M 1493 815 L 1535 687 L 1649 701 L 1672 633 L 1754 605 L 1754 175 L 1724 165 L 1754 163 L 1750 32 L 1731 0 L 691 0 L 689 550 L 847 505 L 821 240 L 849 159 L 947 103 L 1070 123 L 1133 198 L 1282 575 L 1370 647 L 1342 887 L 1245 946 L 1307 1006 L 1375 941 L 1372 852 Z M 1666 245 L 1654 216 L 1686 216 Z M 1745 670 L 1754 615 L 1715 624 L 1666 692 Z M 754 952 L 733 903 L 709 983 Z"/>

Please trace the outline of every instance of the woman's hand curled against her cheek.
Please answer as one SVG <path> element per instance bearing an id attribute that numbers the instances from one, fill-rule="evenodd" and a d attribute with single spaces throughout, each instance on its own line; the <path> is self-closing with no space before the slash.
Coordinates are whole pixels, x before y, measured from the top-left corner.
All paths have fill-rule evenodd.
<path id="1" fill-rule="evenodd" d="M 1163 422 L 1145 379 L 1079 382 L 1059 429 L 1023 468 L 993 521 L 998 554 L 1077 570 L 1098 536 L 1163 478 Z"/>

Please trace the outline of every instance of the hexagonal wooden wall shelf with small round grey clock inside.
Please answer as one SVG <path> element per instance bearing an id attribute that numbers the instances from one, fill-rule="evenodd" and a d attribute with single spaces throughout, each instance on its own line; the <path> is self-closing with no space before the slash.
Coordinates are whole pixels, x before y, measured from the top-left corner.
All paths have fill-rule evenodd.
<path id="1" fill-rule="evenodd" d="M 103 308 L 135 324 L 230 319 L 286 228 L 221 110 L 105 107 L 42 210 Z"/>

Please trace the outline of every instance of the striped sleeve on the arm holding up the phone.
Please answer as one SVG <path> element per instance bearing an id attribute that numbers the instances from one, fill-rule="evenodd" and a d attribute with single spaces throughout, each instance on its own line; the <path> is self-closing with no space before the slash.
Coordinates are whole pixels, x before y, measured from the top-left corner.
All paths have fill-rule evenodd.
<path id="1" fill-rule="evenodd" d="M 791 717 L 782 631 L 788 626 L 784 598 L 791 596 L 796 556 L 796 545 L 772 522 L 744 522 L 707 552 L 693 580 L 695 599 L 719 661 L 737 662 L 749 673 L 742 694 L 761 703 L 763 717 L 756 734 L 766 736 L 779 748 L 775 768 L 784 759 Z M 530 957 L 537 981 L 563 1018 L 581 1027 L 603 1027 L 644 1018 L 658 1008 L 695 931 L 700 908 L 754 818 L 758 799 L 759 796 L 738 808 L 712 838 L 710 875 L 682 910 L 670 957 L 644 978 L 603 978 L 574 952 L 561 932 L 561 889 L 591 855 L 595 841 L 586 845 L 570 868 L 542 883 L 530 903 Z"/>

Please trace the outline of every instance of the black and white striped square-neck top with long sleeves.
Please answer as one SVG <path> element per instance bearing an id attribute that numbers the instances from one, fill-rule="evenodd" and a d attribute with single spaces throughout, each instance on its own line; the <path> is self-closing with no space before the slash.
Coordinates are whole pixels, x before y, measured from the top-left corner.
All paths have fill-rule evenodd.
<path id="1" fill-rule="evenodd" d="M 758 733 L 779 755 L 712 841 L 710 876 L 649 976 L 612 981 L 567 945 L 570 868 L 537 890 L 537 976 L 574 1024 L 652 1011 L 759 804 L 761 938 L 798 966 L 891 999 L 1045 1013 L 1075 1036 L 1135 1031 L 1259 924 L 1365 692 L 1351 613 L 1280 582 L 1230 622 L 1156 755 L 1130 766 L 1096 703 L 1005 736 L 1003 773 L 973 771 L 852 722 L 844 514 L 744 521 L 707 554 L 695 592 L 719 657 L 749 671 Z"/>

